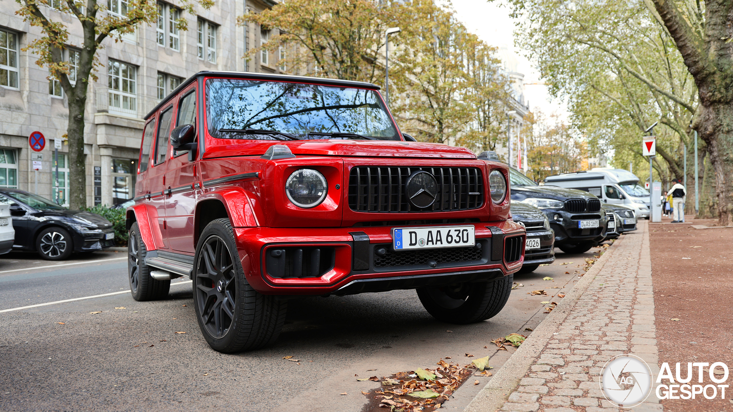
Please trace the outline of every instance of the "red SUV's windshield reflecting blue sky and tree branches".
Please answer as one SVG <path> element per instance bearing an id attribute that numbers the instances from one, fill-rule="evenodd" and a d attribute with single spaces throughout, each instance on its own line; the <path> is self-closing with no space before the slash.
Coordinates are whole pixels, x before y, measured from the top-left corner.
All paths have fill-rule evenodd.
<path id="1" fill-rule="evenodd" d="M 254 129 L 296 139 L 402 140 L 377 92 L 351 87 L 213 78 L 206 81 L 206 119 L 220 139 L 282 139 L 244 131 Z"/>

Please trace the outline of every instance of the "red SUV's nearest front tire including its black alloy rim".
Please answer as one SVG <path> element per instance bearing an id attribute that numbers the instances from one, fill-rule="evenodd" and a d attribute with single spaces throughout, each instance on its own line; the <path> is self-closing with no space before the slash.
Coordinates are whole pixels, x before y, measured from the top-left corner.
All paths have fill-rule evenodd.
<path id="1" fill-rule="evenodd" d="M 229 219 L 207 224 L 194 257 L 194 308 L 206 342 L 222 353 L 272 344 L 287 312 L 286 301 L 250 286 L 238 257 Z"/>

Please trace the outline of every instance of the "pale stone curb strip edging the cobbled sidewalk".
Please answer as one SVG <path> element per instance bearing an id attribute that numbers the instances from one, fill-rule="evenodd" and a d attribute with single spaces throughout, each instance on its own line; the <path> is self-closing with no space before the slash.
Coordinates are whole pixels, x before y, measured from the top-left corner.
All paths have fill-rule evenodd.
<path id="1" fill-rule="evenodd" d="M 623 242 L 623 239 L 622 237 L 616 240 L 614 246 L 616 246 L 616 243 Z M 534 364 L 542 350 L 548 345 L 548 341 L 553 337 L 553 332 L 564 322 L 578 299 L 581 298 L 593 279 L 611 259 L 616 249 L 614 246 L 608 248 L 590 270 L 583 275 L 581 280 L 562 298 L 556 308 L 542 320 L 542 323 L 539 323 L 539 326 L 532 331 L 532 334 L 512 357 L 504 363 L 504 366 L 494 374 L 493 378 L 474 397 L 474 400 L 468 404 L 464 410 L 465 412 L 494 412 L 498 411 L 504 405 L 504 402 L 507 402 L 509 394 L 517 388 L 520 379 L 526 375 L 529 367 Z"/>

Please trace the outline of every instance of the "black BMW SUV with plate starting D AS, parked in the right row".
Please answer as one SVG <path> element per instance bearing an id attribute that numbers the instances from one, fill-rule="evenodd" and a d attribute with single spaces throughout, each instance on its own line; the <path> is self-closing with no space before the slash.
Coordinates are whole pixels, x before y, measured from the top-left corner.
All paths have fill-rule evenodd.
<path id="1" fill-rule="evenodd" d="M 509 168 L 512 200 L 542 210 L 555 231 L 555 246 L 565 253 L 583 253 L 605 238 L 608 216 L 593 194 L 557 186 L 539 186 Z"/>

